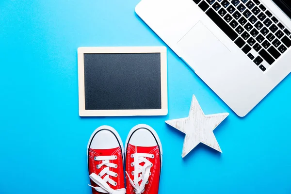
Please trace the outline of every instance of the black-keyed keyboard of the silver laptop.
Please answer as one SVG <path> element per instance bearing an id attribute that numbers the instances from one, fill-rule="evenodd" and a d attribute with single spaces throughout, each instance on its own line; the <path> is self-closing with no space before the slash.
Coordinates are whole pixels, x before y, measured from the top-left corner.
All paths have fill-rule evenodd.
<path id="1" fill-rule="evenodd" d="M 291 48 L 290 30 L 259 0 L 193 1 L 262 71 Z"/>

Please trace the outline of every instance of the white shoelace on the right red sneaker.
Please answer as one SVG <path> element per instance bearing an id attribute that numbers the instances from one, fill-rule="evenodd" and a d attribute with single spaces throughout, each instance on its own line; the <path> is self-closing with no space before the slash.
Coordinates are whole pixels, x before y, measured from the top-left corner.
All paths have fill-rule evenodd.
<path id="1" fill-rule="evenodd" d="M 135 194 L 142 194 L 145 192 L 145 187 L 146 187 L 146 184 L 148 183 L 148 178 L 151 175 L 150 168 L 153 165 L 146 158 L 154 158 L 155 156 L 153 154 L 137 153 L 136 147 L 135 147 L 135 153 L 131 154 L 130 157 L 134 159 L 133 162 L 130 164 L 131 166 L 134 166 L 134 171 L 132 171 L 133 176 L 134 176 L 133 180 L 130 179 L 128 172 L 126 172 L 126 174 L 129 178 L 130 184 L 134 188 Z M 145 163 L 143 166 L 140 165 L 140 163 L 142 162 Z M 142 182 L 139 185 L 139 182 L 141 180 Z"/>

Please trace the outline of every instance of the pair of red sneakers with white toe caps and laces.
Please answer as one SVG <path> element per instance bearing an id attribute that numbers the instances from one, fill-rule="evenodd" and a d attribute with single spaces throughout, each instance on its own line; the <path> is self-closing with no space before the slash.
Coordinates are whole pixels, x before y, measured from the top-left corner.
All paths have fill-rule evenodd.
<path id="1" fill-rule="evenodd" d="M 162 145 L 156 131 L 135 126 L 125 150 L 112 127 L 101 126 L 91 135 L 87 155 L 93 194 L 158 194 Z"/>

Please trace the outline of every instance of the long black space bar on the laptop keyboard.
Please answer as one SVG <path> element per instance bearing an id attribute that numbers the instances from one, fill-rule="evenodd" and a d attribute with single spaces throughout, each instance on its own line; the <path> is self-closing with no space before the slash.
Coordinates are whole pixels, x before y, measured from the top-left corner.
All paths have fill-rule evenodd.
<path id="1" fill-rule="evenodd" d="M 226 33 L 226 35 L 234 41 L 237 37 L 238 34 L 234 32 L 234 30 L 231 29 L 230 26 L 220 17 L 218 14 L 213 9 L 209 9 L 206 12 L 206 15 L 210 17 L 210 19 L 223 31 Z"/>

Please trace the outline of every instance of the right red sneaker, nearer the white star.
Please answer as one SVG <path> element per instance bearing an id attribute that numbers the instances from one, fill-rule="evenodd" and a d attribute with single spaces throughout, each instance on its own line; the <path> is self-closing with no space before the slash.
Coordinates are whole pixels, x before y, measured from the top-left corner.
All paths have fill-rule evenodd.
<path id="1" fill-rule="evenodd" d="M 162 145 L 147 125 L 137 125 L 125 144 L 127 194 L 158 194 L 162 169 Z"/>

